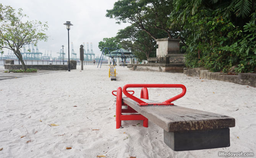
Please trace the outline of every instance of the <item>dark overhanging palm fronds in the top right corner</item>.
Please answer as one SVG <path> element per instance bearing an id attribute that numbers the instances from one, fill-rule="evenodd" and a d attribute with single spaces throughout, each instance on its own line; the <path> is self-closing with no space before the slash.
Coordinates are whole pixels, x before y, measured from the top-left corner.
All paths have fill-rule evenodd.
<path id="1" fill-rule="evenodd" d="M 182 21 L 198 11 L 222 11 L 223 16 L 230 18 L 235 25 L 243 27 L 250 21 L 250 15 L 256 10 L 256 0 L 174 0 L 174 8 L 180 10 Z"/>

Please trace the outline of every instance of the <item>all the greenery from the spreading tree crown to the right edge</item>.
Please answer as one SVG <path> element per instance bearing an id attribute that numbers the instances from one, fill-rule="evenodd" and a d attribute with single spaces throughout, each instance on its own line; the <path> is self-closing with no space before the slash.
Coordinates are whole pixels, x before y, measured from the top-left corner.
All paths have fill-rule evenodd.
<path id="1" fill-rule="evenodd" d="M 187 67 L 240 73 L 256 72 L 255 10 L 256 0 L 119 0 L 106 16 L 132 24 L 116 38 L 140 60 L 155 55 L 151 38 L 179 38 Z"/>

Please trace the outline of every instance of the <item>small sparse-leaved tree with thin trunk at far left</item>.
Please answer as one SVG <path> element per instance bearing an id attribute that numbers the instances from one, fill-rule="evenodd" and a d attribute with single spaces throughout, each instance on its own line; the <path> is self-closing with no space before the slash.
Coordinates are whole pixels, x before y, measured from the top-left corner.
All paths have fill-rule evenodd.
<path id="1" fill-rule="evenodd" d="M 19 8 L 15 13 L 15 9 L 11 6 L 0 5 L 0 49 L 10 49 L 21 61 L 22 69 L 26 70 L 22 54 L 19 51 L 23 45 L 38 41 L 47 41 L 48 36 L 44 33 L 47 30 L 47 22 L 41 21 L 23 21 L 28 16 L 23 14 Z"/>

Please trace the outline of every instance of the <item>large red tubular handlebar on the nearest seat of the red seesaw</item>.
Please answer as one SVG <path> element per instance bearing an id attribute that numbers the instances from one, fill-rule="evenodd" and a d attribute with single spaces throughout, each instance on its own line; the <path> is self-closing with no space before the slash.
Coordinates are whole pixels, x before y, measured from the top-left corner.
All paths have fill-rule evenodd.
<path id="1" fill-rule="evenodd" d="M 126 90 L 127 88 L 182 88 L 182 92 L 175 97 L 172 97 L 164 102 L 161 103 L 146 103 L 141 99 L 131 95 Z M 173 105 L 171 102 L 183 97 L 186 94 L 186 87 L 181 84 L 127 84 L 123 86 L 123 94 L 127 97 L 133 99 L 134 101 L 138 102 L 138 105 Z M 143 95 L 143 94 L 142 94 Z"/>

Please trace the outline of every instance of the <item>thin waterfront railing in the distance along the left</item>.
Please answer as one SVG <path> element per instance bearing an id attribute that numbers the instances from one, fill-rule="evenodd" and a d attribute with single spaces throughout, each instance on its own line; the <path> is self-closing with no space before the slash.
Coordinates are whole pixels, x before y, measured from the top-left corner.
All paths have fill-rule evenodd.
<path id="1" fill-rule="evenodd" d="M 0 59 L 0 65 L 5 65 L 6 59 Z M 24 60 L 25 65 L 63 65 L 63 61 L 39 61 L 39 60 Z M 83 65 L 94 65 L 93 61 L 84 61 Z M 96 64 L 97 62 L 95 62 Z M 14 60 L 15 65 L 21 65 L 19 60 Z M 102 62 L 107 64 L 107 62 Z M 68 65 L 67 61 L 64 61 L 64 65 Z M 81 61 L 76 62 L 76 65 L 81 65 Z"/>

